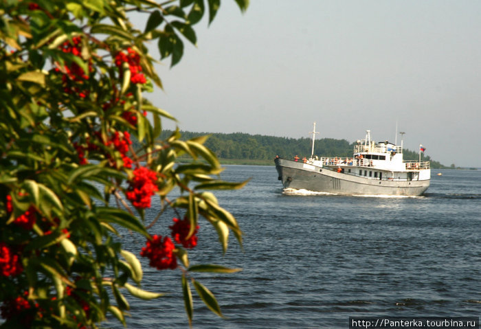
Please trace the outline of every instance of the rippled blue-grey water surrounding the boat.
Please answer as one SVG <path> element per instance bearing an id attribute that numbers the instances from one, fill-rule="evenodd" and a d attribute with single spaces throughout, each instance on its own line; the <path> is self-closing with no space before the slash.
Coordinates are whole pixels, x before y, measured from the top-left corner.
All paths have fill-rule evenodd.
<path id="1" fill-rule="evenodd" d="M 287 195 L 273 167 L 223 173 L 227 181 L 249 177 L 243 190 L 216 192 L 243 229 L 243 249 L 231 235 L 222 256 L 214 229 L 201 220 L 191 263 L 243 271 L 194 275 L 227 318 L 197 298 L 194 328 L 348 328 L 350 316 L 480 315 L 481 170 L 433 171 L 427 194 L 414 198 Z M 147 213 L 155 215 L 155 207 Z M 165 234 L 169 216 L 150 233 Z M 143 245 L 135 240 L 129 249 Z M 128 327 L 188 328 L 179 271 L 142 262 L 144 288 L 169 295 L 130 299 Z"/>

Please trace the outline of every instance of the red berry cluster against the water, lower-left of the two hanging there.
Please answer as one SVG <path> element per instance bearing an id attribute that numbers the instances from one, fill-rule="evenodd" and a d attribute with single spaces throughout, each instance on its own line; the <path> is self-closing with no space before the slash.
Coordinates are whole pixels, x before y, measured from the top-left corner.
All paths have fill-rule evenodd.
<path id="1" fill-rule="evenodd" d="M 142 248 L 140 256 L 148 258 L 149 265 L 159 270 L 175 269 L 177 258 L 175 258 L 174 249 L 174 242 L 168 236 L 162 239 L 162 236 L 155 235 L 147 240 L 146 247 Z"/>

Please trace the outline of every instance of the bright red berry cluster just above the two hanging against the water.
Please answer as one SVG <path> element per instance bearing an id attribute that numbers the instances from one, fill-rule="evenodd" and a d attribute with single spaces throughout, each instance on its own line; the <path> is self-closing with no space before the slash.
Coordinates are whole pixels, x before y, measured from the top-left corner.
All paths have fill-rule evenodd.
<path id="1" fill-rule="evenodd" d="M 130 181 L 126 196 L 135 207 L 149 208 L 150 197 L 159 190 L 157 185 L 157 174 L 145 167 L 133 170 L 133 179 Z"/>

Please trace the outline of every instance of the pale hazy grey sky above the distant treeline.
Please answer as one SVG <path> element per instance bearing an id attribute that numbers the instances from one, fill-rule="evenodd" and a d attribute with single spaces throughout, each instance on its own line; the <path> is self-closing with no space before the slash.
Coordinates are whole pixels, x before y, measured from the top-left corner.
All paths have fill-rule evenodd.
<path id="1" fill-rule="evenodd" d="M 481 167 L 479 0 L 223 0 L 196 31 L 147 95 L 182 130 L 394 141 L 397 121 L 405 148 Z"/>

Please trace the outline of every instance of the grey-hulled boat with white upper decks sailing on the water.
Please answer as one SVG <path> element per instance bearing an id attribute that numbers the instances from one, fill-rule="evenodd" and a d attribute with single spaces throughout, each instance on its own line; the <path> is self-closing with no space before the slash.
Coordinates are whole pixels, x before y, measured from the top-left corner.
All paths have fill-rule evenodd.
<path id="1" fill-rule="evenodd" d="M 314 156 L 315 123 L 311 157 L 283 159 L 276 156 L 278 179 L 284 189 L 308 190 L 331 194 L 373 196 L 421 196 L 431 179 L 429 161 L 403 160 L 403 141 L 376 143 L 370 131 L 358 140 L 353 157 Z M 403 133 L 401 133 L 403 134 Z"/>

